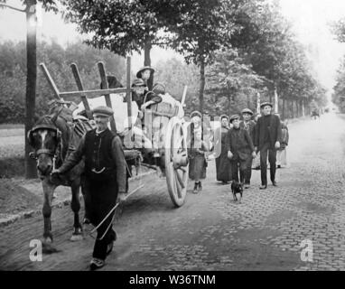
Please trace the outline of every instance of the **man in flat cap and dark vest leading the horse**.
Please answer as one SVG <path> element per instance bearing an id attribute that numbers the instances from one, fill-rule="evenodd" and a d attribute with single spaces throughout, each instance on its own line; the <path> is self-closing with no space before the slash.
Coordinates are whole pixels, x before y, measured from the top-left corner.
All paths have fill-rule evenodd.
<path id="1" fill-rule="evenodd" d="M 110 107 L 96 107 L 93 111 L 96 128 L 84 135 L 76 151 L 69 155 L 61 167 L 52 173 L 70 171 L 85 157 L 86 203 L 89 220 L 96 227 L 117 203 L 117 194 L 126 193 L 126 160 L 119 136 L 108 129 L 114 112 Z M 114 212 L 99 226 L 90 269 L 105 265 L 113 248 L 116 233 L 112 228 Z"/>

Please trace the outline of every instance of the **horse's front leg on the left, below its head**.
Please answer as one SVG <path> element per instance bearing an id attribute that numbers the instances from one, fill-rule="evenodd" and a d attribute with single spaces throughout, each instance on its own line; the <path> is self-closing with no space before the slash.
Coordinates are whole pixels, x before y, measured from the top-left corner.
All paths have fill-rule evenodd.
<path id="1" fill-rule="evenodd" d="M 44 197 L 42 208 L 42 215 L 44 218 L 44 240 L 42 245 L 43 253 L 50 254 L 57 251 L 57 249 L 52 246 L 53 239 L 51 234 L 51 200 L 56 186 L 45 179 L 44 181 L 42 181 L 42 187 Z"/>

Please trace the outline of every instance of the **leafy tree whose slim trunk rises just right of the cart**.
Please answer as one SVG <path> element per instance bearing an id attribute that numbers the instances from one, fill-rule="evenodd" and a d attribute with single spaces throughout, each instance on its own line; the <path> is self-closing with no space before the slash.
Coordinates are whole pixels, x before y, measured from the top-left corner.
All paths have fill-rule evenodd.
<path id="1" fill-rule="evenodd" d="M 232 15 L 236 13 L 238 1 L 194 0 L 191 9 L 183 14 L 182 23 L 172 25 L 171 46 L 183 54 L 187 63 L 200 67 L 200 112 L 204 107 L 205 67 L 212 63 L 213 53 L 222 46 L 228 46 L 231 33 L 235 30 Z"/>

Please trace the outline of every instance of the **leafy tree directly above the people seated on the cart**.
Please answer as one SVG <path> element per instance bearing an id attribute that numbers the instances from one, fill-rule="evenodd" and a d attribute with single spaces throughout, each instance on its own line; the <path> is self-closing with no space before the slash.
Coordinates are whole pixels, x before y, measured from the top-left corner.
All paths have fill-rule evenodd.
<path id="1" fill-rule="evenodd" d="M 163 33 L 172 23 L 179 24 L 180 14 L 189 6 L 183 0 L 61 1 L 67 9 L 65 18 L 77 23 L 80 33 L 91 35 L 89 45 L 121 56 L 144 50 L 145 66 L 151 65 L 154 45 L 166 47 Z"/>

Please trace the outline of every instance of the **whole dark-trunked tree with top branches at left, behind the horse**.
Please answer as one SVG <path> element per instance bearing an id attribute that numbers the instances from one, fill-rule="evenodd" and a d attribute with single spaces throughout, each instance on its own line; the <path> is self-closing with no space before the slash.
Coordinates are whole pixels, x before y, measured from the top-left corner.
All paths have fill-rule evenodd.
<path id="1" fill-rule="evenodd" d="M 36 5 L 41 3 L 45 10 L 57 11 L 54 0 L 23 0 L 23 9 L 7 5 L 3 0 L 0 7 L 6 7 L 18 12 L 25 13 L 26 16 L 26 95 L 25 95 L 25 135 L 33 127 L 34 108 L 36 98 L 36 79 L 37 79 L 37 61 L 36 61 Z M 36 177 L 36 167 L 33 160 L 29 158 L 31 147 L 25 137 L 25 177 Z"/>

